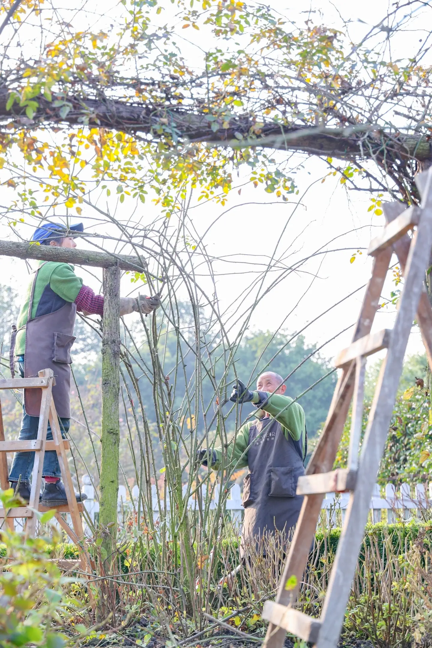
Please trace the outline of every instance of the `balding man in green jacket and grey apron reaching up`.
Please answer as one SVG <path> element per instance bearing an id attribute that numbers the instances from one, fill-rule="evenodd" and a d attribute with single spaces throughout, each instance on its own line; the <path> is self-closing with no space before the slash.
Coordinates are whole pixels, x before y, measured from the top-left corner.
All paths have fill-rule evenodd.
<path id="1" fill-rule="evenodd" d="M 290 538 L 297 524 L 302 496 L 295 494 L 297 479 L 304 475 L 307 452 L 304 411 L 298 402 L 284 396 L 283 378 L 273 371 L 259 376 L 256 391 L 238 380 L 230 400 L 252 402 L 258 420 L 248 421 L 238 430 L 235 443 L 227 446 L 231 470 L 249 466 L 244 479 L 242 502 L 245 507 L 241 552 L 266 533 L 284 531 Z M 209 450 L 211 467 L 218 470 L 222 449 Z M 198 450 L 197 459 L 207 465 L 207 450 Z"/>

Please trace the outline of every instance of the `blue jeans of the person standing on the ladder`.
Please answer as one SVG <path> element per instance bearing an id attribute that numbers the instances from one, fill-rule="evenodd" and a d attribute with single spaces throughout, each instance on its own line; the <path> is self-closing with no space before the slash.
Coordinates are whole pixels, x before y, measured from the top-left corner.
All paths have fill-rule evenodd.
<path id="1" fill-rule="evenodd" d="M 18 356 L 19 375 L 24 378 L 24 356 Z M 62 437 L 65 438 L 65 433 L 69 432 L 69 425 L 71 419 L 60 419 L 60 430 L 62 430 Z M 21 421 L 21 430 L 19 430 L 19 441 L 32 441 L 38 436 L 39 417 L 29 416 L 25 413 L 23 405 L 23 421 Z M 47 441 L 52 441 L 51 426 L 48 423 Z M 25 481 L 30 483 L 30 475 L 32 474 L 34 464 L 34 452 L 16 452 L 12 460 L 12 467 L 10 468 L 9 481 Z M 45 452 L 43 457 L 43 477 L 62 477 L 60 472 L 60 465 L 58 464 L 57 453 L 55 450 Z"/>

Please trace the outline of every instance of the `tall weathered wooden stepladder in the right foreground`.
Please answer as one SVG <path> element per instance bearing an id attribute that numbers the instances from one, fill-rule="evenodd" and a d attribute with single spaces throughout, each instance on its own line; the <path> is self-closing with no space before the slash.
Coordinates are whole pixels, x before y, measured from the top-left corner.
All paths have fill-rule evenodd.
<path id="1" fill-rule="evenodd" d="M 422 332 L 427 360 L 432 369 L 432 308 L 425 286 L 432 250 L 432 167 L 417 176 L 416 185 L 422 196 L 421 207 L 405 209 L 402 203 L 384 205 L 387 225 L 369 246 L 368 254 L 374 257 L 372 277 L 352 344 L 336 358 L 335 364 L 341 369 L 341 375 L 323 433 L 306 475 L 299 478 L 297 494 L 304 495 L 304 500 L 279 592 L 274 603 L 266 601 L 264 604 L 262 616 L 270 621 L 264 641 L 267 648 L 282 648 L 287 631 L 313 643 L 317 648 L 334 648 L 337 645 L 367 523 L 372 489 L 389 431 L 405 349 L 415 319 Z M 407 234 L 410 230 L 414 230 L 412 237 Z M 404 288 L 394 328 L 371 334 L 392 253 L 398 257 L 404 273 Z M 387 349 L 387 353 L 381 365 L 359 454 L 365 362 L 367 356 L 380 349 Z M 348 465 L 346 469 L 332 470 L 351 400 Z M 308 561 L 321 503 L 324 494 L 331 491 L 350 491 L 350 500 L 321 618 L 315 619 L 296 610 L 293 605 Z M 293 588 L 286 588 L 290 578 L 290 584 L 297 584 Z"/>

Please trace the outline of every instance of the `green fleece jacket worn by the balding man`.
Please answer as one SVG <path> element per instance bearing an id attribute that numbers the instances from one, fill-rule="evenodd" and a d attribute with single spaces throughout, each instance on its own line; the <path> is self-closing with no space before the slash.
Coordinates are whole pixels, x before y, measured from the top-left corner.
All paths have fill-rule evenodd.
<path id="1" fill-rule="evenodd" d="M 306 445 L 306 423 L 302 406 L 299 405 L 298 402 L 293 402 L 293 399 L 289 396 L 283 396 L 282 394 L 273 394 L 273 396 L 270 396 L 269 392 L 267 392 L 267 395 L 269 399 L 266 404 L 262 406 L 261 410 L 256 410 L 255 417 L 257 419 L 262 419 L 262 417 L 268 413 L 272 419 L 276 419 L 280 423 L 282 432 L 286 439 L 288 439 L 288 435 L 290 435 L 293 441 L 299 442 L 304 456 Z M 259 397 L 256 398 L 257 396 L 258 392 L 255 391 L 255 402 L 258 402 Z M 238 430 L 237 435 L 235 436 L 235 443 L 233 439 L 233 441 L 231 441 L 227 446 L 227 459 L 232 470 L 237 470 L 247 466 L 249 429 L 255 424 L 256 421 L 253 419 L 247 421 L 247 423 Z M 222 461 L 222 447 L 213 448 L 213 450 L 216 452 L 217 460 L 212 466 L 212 469 L 219 470 Z M 225 464 L 225 468 L 226 467 Z"/>

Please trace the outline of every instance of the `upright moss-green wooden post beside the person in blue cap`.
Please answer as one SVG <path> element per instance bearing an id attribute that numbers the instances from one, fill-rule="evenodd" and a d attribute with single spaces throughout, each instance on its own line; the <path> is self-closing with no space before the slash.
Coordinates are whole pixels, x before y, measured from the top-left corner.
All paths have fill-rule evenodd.
<path id="1" fill-rule="evenodd" d="M 102 436 L 100 443 L 100 535 L 111 564 L 117 535 L 119 492 L 119 394 L 120 394 L 120 269 L 104 270 L 102 319 Z"/>

